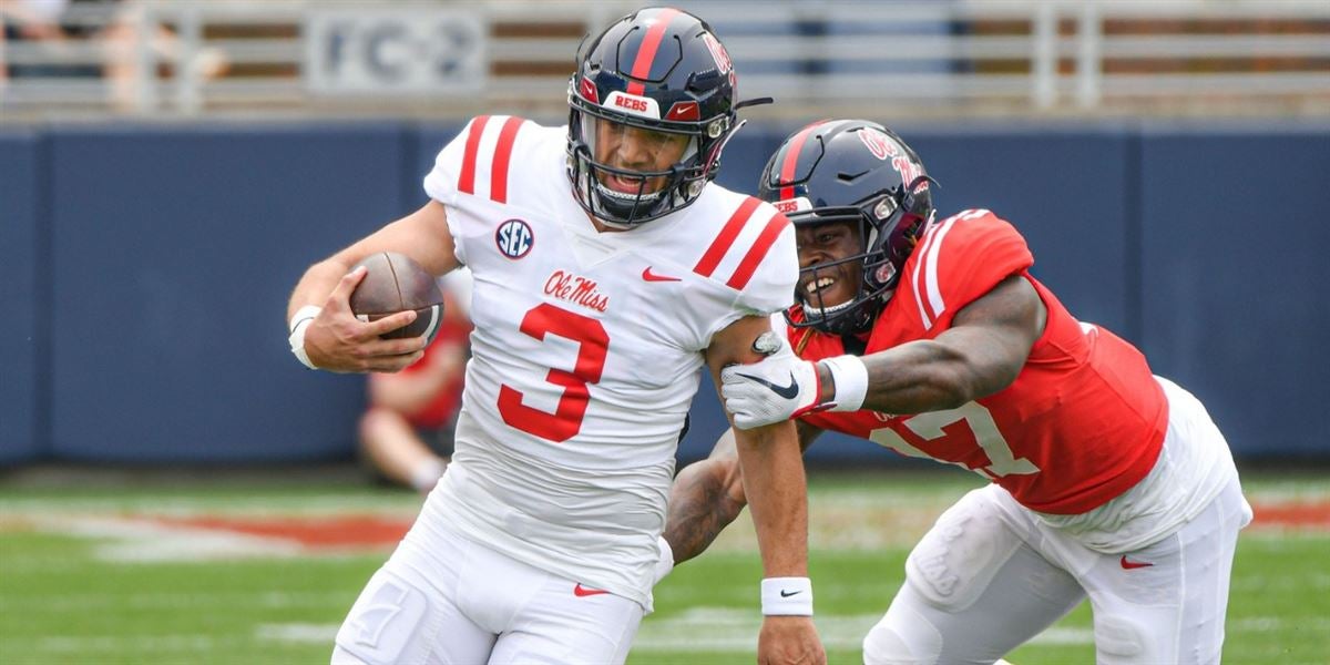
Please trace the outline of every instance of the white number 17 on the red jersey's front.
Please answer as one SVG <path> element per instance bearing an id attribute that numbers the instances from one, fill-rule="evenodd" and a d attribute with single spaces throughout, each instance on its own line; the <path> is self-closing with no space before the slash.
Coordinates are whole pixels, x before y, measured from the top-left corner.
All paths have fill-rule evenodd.
<path id="1" fill-rule="evenodd" d="M 907 419 L 904 424 L 920 439 L 926 442 L 942 443 L 948 436 L 959 434 L 955 430 L 948 432 L 948 430 L 962 422 L 970 427 L 970 434 L 974 435 L 974 439 L 979 443 L 979 447 L 983 448 L 984 455 L 988 458 L 988 466 L 971 468 L 971 471 L 988 479 L 1039 473 L 1039 467 L 1028 459 L 1016 459 L 1016 456 L 1012 455 L 1011 446 L 1007 444 L 1007 439 L 1004 439 L 1001 431 L 998 430 L 998 423 L 994 422 L 992 414 L 990 414 L 988 410 L 978 402 L 970 402 L 956 408 L 948 408 L 947 411 L 919 414 Z M 902 455 L 935 459 L 956 464 L 959 467 L 968 467 L 967 464 L 956 460 L 930 455 L 910 444 L 910 442 L 907 442 L 903 436 L 887 427 L 874 430 L 868 438 L 872 443 L 891 448 Z"/>

